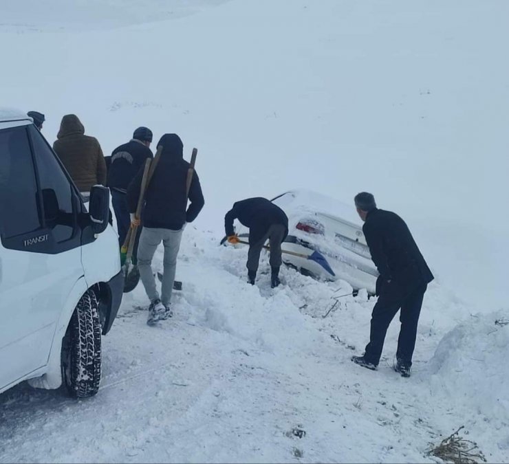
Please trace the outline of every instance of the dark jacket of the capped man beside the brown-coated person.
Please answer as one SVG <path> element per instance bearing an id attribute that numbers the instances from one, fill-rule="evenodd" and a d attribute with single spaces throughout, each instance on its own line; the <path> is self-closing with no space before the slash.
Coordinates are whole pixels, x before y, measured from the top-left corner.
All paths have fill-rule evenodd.
<path id="1" fill-rule="evenodd" d="M 115 148 L 108 166 L 108 187 L 125 192 L 147 158 L 152 157 L 150 148 L 139 140 L 133 139 Z"/>

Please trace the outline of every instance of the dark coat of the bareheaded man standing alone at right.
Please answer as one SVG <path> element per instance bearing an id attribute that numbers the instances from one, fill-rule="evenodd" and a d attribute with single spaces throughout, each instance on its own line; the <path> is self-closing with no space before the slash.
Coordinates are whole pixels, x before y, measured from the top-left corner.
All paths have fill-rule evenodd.
<path id="1" fill-rule="evenodd" d="M 433 274 L 422 256 L 407 224 L 398 214 L 372 210 L 362 226 L 371 259 L 380 272 L 377 287 L 391 280 L 407 293 L 433 280 Z M 379 289 L 377 289 L 379 294 Z"/>

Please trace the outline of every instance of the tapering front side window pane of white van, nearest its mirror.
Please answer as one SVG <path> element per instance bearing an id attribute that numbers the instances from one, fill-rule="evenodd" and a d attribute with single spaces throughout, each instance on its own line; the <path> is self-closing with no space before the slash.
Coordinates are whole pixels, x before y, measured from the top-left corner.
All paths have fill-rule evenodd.
<path id="1" fill-rule="evenodd" d="M 32 124 L 28 126 L 28 131 L 39 173 L 45 227 L 52 229 L 54 240 L 61 243 L 71 239 L 75 229 L 71 182 L 41 133 Z"/>

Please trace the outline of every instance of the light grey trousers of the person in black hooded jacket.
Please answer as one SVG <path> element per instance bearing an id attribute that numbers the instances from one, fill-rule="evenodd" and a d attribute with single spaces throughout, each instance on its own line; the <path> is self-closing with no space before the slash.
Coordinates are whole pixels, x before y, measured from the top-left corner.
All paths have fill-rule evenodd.
<path id="1" fill-rule="evenodd" d="M 144 227 L 140 235 L 138 269 L 140 269 L 143 286 L 151 301 L 160 299 L 165 306 L 171 302 L 171 291 L 173 290 L 173 281 L 175 280 L 177 255 L 180 249 L 183 230 Z M 157 250 L 161 242 L 164 245 L 164 272 L 160 297 L 158 290 L 155 288 L 155 276 L 153 275 L 151 265 L 155 250 Z"/>

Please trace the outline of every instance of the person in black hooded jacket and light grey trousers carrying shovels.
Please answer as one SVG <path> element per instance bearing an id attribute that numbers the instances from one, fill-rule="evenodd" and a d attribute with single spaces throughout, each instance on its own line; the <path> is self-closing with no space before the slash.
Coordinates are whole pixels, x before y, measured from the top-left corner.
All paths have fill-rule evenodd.
<path id="1" fill-rule="evenodd" d="M 204 206 L 202 187 L 194 171 L 189 195 L 186 195 L 186 179 L 191 165 L 184 161 L 183 144 L 176 134 L 164 134 L 158 143 L 162 146 L 161 157 L 155 167 L 144 198 L 143 230 L 138 247 L 138 269 L 151 304 L 148 324 L 169 318 L 173 315 L 171 292 L 175 280 L 177 255 L 184 226 L 193 222 Z M 127 189 L 127 201 L 131 220 L 133 218 L 142 184 L 143 169 Z M 187 208 L 187 199 L 191 204 Z M 160 243 L 164 245 L 164 274 L 161 295 L 155 288 L 155 278 L 151 264 L 155 250 Z"/>

